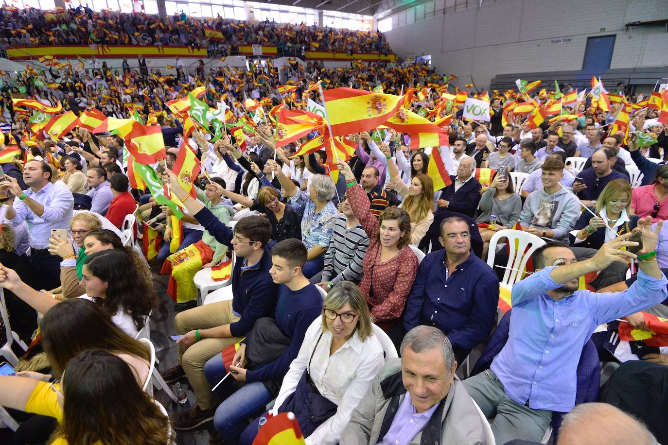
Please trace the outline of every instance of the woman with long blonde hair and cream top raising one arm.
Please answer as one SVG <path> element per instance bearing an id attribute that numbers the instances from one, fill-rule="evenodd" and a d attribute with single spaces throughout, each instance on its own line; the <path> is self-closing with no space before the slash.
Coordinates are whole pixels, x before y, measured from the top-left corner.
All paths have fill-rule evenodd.
<path id="1" fill-rule="evenodd" d="M 381 144 L 380 149 L 387 159 L 389 181 L 403 197 L 399 208 L 407 211 L 411 217 L 411 244 L 418 246 L 434 222 L 434 181 L 428 175 L 418 173 L 411 177 L 411 183 L 407 185 L 401 179 L 401 173 L 391 157 L 389 147 Z"/>

